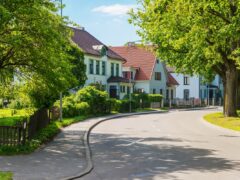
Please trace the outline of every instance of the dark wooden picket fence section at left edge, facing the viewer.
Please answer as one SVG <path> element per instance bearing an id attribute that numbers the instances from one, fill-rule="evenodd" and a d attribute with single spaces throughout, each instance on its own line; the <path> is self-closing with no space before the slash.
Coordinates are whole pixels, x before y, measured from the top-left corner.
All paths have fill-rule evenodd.
<path id="1" fill-rule="evenodd" d="M 0 126 L 0 145 L 23 145 L 27 139 L 27 128 L 23 126 Z"/>

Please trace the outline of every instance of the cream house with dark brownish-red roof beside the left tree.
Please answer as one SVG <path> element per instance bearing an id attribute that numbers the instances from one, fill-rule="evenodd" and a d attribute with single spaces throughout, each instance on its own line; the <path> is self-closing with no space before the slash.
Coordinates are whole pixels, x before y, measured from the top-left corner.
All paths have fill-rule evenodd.
<path id="1" fill-rule="evenodd" d="M 129 79 L 122 76 L 126 60 L 92 36 L 85 29 L 72 28 L 72 40 L 84 53 L 87 80 L 85 86 L 101 84 L 113 98 L 123 98 L 130 93 Z M 121 91 L 124 87 L 126 91 Z"/>

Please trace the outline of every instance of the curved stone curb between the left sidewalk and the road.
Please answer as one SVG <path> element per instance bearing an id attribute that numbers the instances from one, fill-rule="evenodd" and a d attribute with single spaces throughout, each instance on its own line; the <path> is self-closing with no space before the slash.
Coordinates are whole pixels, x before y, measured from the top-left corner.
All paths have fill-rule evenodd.
<path id="1" fill-rule="evenodd" d="M 145 115 L 145 114 L 160 114 L 160 113 L 168 113 L 169 111 L 147 111 L 147 112 L 140 112 L 140 113 L 128 113 L 128 114 L 119 114 L 119 115 L 115 115 L 115 116 L 112 116 L 112 117 L 106 117 L 106 118 L 103 118 L 102 120 L 99 120 L 98 122 L 94 123 L 93 125 L 91 125 L 88 130 L 85 131 L 84 133 L 84 146 L 85 146 L 85 149 L 86 149 L 86 159 L 87 159 L 87 165 L 86 165 L 86 168 L 84 169 L 83 172 L 77 174 L 77 175 L 74 175 L 74 176 L 71 176 L 71 177 L 65 177 L 64 179 L 62 180 L 74 180 L 74 179 L 78 179 L 78 178 L 81 178 L 87 174 L 89 174 L 93 168 L 94 168 L 94 165 L 93 165 L 93 160 L 92 160 L 92 150 L 91 150 L 91 147 L 90 147 L 90 134 L 91 134 L 91 131 L 99 124 L 105 122 L 105 121 L 109 121 L 109 120 L 113 120 L 113 119 L 118 119 L 118 118 L 124 118 L 124 117 L 130 117 L 130 116 L 136 116 L 136 115 Z"/>

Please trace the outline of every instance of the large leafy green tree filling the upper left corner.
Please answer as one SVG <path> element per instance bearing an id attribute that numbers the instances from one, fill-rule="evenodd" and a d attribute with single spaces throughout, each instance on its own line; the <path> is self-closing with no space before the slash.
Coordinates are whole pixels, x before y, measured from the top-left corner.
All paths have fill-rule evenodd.
<path id="1" fill-rule="evenodd" d="M 57 12 L 58 4 L 51 0 L 0 2 L 1 82 L 14 75 L 39 107 L 49 106 L 57 93 L 82 85 L 86 78 L 70 22 Z"/>

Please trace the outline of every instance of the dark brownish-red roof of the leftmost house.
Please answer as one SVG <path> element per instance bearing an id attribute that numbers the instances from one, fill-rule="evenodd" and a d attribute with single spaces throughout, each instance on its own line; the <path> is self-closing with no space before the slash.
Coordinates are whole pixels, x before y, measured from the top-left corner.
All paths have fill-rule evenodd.
<path id="1" fill-rule="evenodd" d="M 74 32 L 72 37 L 73 42 L 75 42 L 83 50 L 84 53 L 93 56 L 101 56 L 101 52 L 94 49 L 93 46 L 107 47 L 105 44 L 100 42 L 98 39 L 96 39 L 84 29 L 72 28 L 72 30 Z M 111 49 L 108 49 L 107 56 L 112 59 L 126 61 L 123 57 L 121 57 Z"/>

